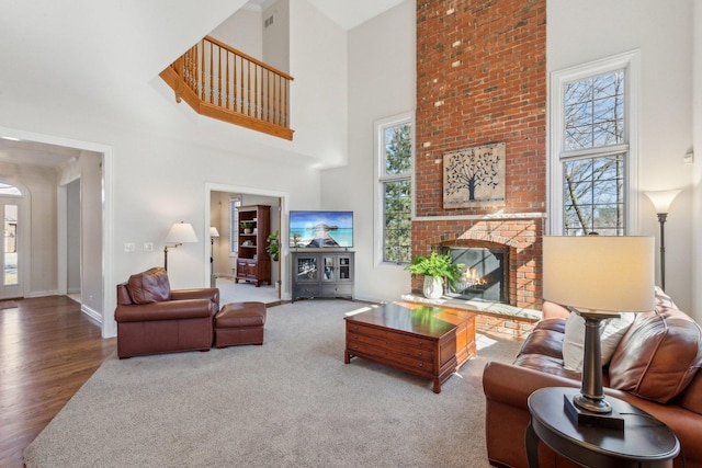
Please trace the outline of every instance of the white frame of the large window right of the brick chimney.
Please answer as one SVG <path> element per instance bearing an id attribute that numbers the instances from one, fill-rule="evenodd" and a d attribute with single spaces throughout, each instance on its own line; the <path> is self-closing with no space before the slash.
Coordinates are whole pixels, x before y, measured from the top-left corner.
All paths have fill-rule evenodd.
<path id="1" fill-rule="evenodd" d="M 565 85 L 600 75 L 624 70 L 624 142 L 586 150 L 565 151 Z M 641 52 L 631 50 L 551 72 L 550 83 L 550 190 L 548 233 L 563 235 L 563 160 L 624 152 L 624 236 L 638 232 L 638 135 L 641 103 Z"/>

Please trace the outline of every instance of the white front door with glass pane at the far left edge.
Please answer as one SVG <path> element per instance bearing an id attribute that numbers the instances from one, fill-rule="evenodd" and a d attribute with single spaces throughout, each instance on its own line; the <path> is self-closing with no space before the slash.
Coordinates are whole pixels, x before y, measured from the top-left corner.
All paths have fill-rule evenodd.
<path id="1" fill-rule="evenodd" d="M 20 217 L 16 202 L 0 198 L 0 210 L 3 218 L 3 242 L 0 266 L 0 298 L 21 297 L 20 284 Z"/>

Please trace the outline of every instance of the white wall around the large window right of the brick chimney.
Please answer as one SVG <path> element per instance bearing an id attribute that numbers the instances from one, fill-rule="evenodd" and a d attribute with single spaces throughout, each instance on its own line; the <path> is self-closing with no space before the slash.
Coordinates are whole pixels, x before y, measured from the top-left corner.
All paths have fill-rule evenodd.
<path id="1" fill-rule="evenodd" d="M 548 72 L 641 50 L 637 233 L 658 237 L 656 214 L 643 191 L 683 190 L 666 224 L 666 286 L 690 313 L 693 168 L 682 158 L 692 146 L 692 0 L 675 8 L 658 0 L 546 2 Z"/>

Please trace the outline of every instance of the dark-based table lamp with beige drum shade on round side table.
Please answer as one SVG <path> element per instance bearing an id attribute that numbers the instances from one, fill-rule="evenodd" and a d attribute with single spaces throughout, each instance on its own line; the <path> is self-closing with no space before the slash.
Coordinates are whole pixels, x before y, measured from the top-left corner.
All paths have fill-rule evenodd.
<path id="1" fill-rule="evenodd" d="M 543 239 L 544 300 L 585 319 L 582 386 L 564 408 L 575 424 L 624 427 L 602 392 L 600 323 L 654 309 L 654 239 L 567 236 Z"/>

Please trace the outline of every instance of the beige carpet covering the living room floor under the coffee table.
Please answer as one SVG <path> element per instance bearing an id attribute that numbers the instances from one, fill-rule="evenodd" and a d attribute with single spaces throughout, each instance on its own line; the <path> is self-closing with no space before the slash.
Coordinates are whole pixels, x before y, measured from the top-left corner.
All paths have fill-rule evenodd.
<path id="1" fill-rule="evenodd" d="M 262 346 L 118 361 L 86 383 L 25 450 L 34 467 L 487 467 L 480 376 L 519 344 L 431 381 L 343 364 L 344 300 L 270 308 Z"/>

